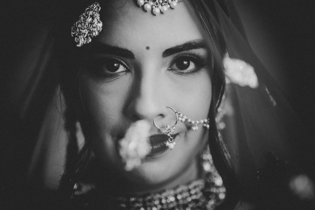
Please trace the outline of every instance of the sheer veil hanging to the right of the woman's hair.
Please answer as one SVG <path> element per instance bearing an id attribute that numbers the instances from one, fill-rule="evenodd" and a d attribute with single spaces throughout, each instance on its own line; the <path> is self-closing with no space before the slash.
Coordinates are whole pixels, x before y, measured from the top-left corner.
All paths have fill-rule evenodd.
<path id="1" fill-rule="evenodd" d="M 243 195 L 253 198 L 260 194 L 259 199 L 265 206 L 290 209 L 294 208 L 290 204 L 294 204 L 302 209 L 304 206 L 289 193 L 288 179 L 301 173 L 295 159 L 300 153 L 296 145 L 305 141 L 302 134 L 305 125 L 291 106 L 285 87 L 276 82 L 249 45 L 233 1 L 213 0 L 211 3 L 213 10 L 209 1 L 203 1 L 211 23 L 224 37 L 228 56 L 253 67 L 257 77 L 255 87 L 227 82 L 221 104 L 223 115 L 219 119 L 223 141 L 243 186 Z M 260 191 L 253 191 L 255 187 Z"/>

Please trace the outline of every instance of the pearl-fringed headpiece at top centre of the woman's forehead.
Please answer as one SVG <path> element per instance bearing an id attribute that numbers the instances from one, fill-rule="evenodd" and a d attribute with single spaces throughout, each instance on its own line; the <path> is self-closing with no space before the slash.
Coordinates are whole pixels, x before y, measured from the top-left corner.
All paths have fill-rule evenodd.
<path id="1" fill-rule="evenodd" d="M 136 0 L 137 4 L 145 11 L 152 10 L 152 13 L 157 14 L 164 14 L 168 9 L 172 8 L 175 9 L 177 3 L 183 0 Z"/>

